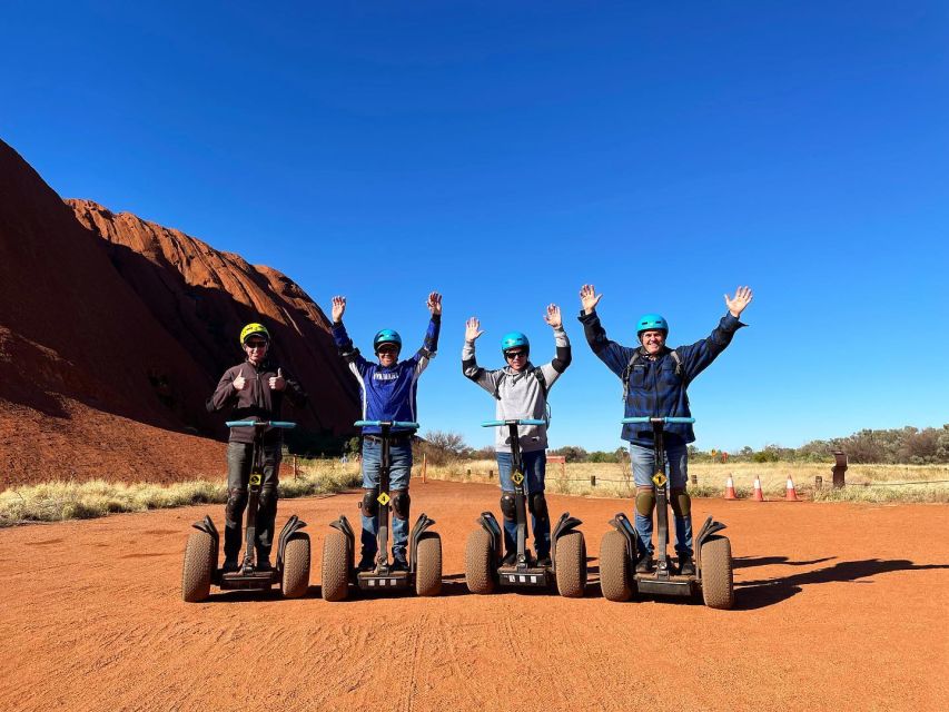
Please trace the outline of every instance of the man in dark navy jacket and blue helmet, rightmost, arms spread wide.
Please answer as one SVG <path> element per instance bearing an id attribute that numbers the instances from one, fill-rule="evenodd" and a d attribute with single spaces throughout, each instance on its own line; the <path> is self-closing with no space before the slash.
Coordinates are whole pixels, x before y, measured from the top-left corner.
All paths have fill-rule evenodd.
<path id="1" fill-rule="evenodd" d="M 596 305 L 603 297 L 593 285 L 580 289 L 583 324 L 586 342 L 593 353 L 623 380 L 625 417 L 691 417 L 689 409 L 689 384 L 702 373 L 725 347 L 734 333 L 745 324 L 739 322 L 744 308 L 751 303 L 749 287 L 739 287 L 733 297 L 725 295 L 728 314 L 708 338 L 689 346 L 672 349 L 665 345 L 669 325 L 659 314 L 646 314 L 636 323 L 639 346 L 621 346 L 606 338 L 606 332 L 596 315 Z M 655 494 L 652 475 L 655 472 L 655 444 L 649 424 L 625 424 L 621 437 L 630 443 L 630 459 L 636 484 L 636 551 L 643 552 L 636 562 L 637 573 L 653 568 L 652 515 Z M 688 445 L 694 442 L 691 424 L 665 425 L 664 449 L 669 477 L 669 494 L 675 520 L 675 552 L 679 556 L 679 573 L 694 575 L 692 558 L 691 498 L 685 491 L 688 478 Z"/>

